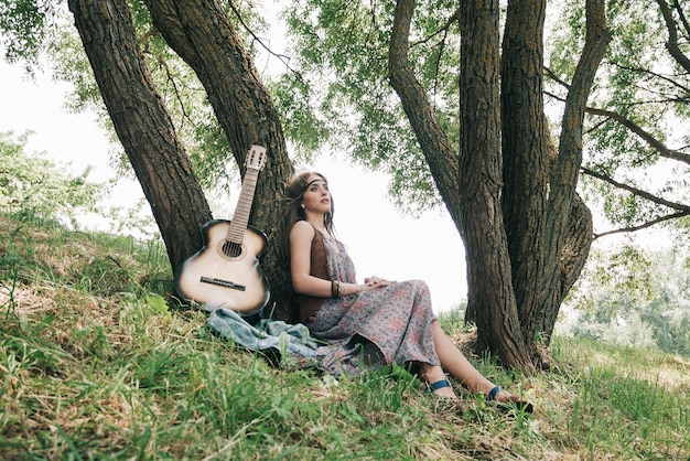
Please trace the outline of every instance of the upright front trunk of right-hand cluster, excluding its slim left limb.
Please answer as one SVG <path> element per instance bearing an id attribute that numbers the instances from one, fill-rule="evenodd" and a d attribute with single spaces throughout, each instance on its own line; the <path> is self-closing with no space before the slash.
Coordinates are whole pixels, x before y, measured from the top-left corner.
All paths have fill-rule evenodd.
<path id="1" fill-rule="evenodd" d="M 506 366 L 532 369 L 520 329 L 500 206 L 499 2 L 467 0 L 461 13 L 462 236 L 467 258 L 468 311 L 477 346 Z"/>

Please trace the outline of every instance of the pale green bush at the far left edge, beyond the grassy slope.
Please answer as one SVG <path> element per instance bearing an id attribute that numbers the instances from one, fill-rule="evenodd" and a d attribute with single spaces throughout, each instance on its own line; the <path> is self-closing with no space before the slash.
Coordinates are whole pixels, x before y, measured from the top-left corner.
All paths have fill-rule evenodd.
<path id="1" fill-rule="evenodd" d="M 0 207 L 45 219 L 69 219 L 76 227 L 77 213 L 94 208 L 103 184 L 87 180 L 88 168 L 75 175 L 68 172 L 69 165 L 46 159 L 45 152 L 28 153 L 29 136 L 0 132 Z"/>

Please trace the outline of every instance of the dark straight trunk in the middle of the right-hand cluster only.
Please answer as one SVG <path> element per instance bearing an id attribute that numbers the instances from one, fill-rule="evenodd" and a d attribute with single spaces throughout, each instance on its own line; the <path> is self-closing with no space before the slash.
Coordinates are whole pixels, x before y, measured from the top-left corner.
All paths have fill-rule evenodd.
<path id="1" fill-rule="evenodd" d="M 503 42 L 500 110 L 504 194 L 502 204 L 513 286 L 525 345 L 536 356 L 537 308 L 551 292 L 545 233 L 550 219 L 550 161 L 554 157 L 543 114 L 543 21 L 546 0 L 510 2 Z"/>

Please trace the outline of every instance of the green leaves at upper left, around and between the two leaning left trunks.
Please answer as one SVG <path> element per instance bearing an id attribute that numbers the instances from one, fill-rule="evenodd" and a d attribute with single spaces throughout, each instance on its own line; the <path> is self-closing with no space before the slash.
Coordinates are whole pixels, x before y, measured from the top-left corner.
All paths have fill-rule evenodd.
<path id="1" fill-rule="evenodd" d="M 203 86 L 151 25 L 143 2 L 132 0 L 130 8 L 148 67 L 202 185 L 209 191 L 227 193 L 236 186 L 238 170 Z M 248 50 L 257 55 L 265 49 L 261 35 L 268 29 L 261 3 L 242 2 L 236 8 L 233 10 L 228 3 L 229 18 L 245 37 Z M 40 57 L 48 57 L 54 77 L 73 84 L 66 107 L 74 111 L 93 110 L 114 146 L 119 146 L 80 40 L 66 11 L 66 1 L 12 0 L 0 6 L 2 11 L 8 14 L 0 19 L 0 37 L 4 37 L 8 46 L 6 60 L 23 62 L 31 73 L 39 65 Z M 119 175 L 132 176 L 121 148 L 114 147 L 111 154 L 111 163 Z"/>

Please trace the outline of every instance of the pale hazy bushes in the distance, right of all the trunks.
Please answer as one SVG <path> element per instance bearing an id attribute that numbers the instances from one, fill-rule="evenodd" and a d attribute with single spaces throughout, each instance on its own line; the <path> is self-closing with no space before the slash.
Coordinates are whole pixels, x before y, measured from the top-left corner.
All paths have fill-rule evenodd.
<path id="1" fill-rule="evenodd" d="M 690 357 L 689 265 L 678 249 L 593 251 L 569 300 L 572 333 Z"/>

